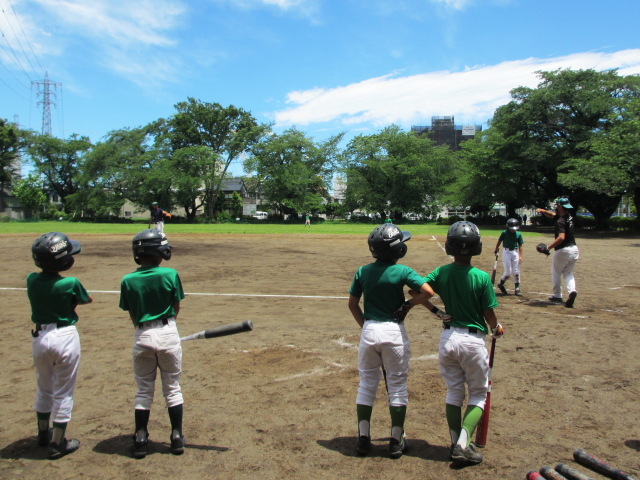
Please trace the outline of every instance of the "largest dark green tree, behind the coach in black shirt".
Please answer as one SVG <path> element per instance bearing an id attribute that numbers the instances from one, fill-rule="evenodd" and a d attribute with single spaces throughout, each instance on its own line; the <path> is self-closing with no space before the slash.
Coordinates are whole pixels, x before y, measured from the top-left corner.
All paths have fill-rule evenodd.
<path id="1" fill-rule="evenodd" d="M 637 96 L 638 77 L 615 70 L 538 74 L 537 88 L 512 90 L 513 100 L 496 110 L 489 130 L 463 144 L 458 195 L 485 205 L 490 198 L 504 202 L 510 215 L 569 195 L 604 224 L 619 195 L 589 190 L 564 175 L 576 169 L 570 160 L 589 162 L 597 155 L 595 142 L 615 124 L 612 114 Z"/>

